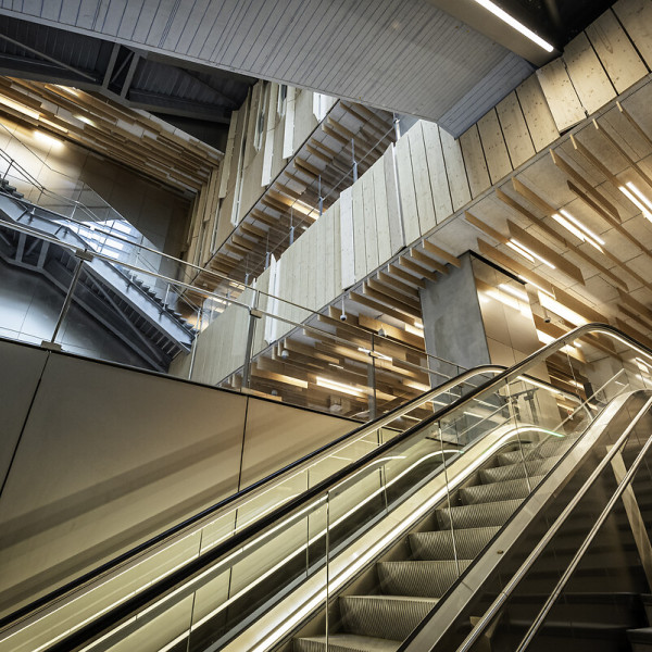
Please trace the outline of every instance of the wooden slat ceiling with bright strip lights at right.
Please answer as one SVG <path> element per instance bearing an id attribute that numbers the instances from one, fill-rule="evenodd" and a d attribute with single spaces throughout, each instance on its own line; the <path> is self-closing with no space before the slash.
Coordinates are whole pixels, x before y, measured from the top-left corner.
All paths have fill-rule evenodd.
<path id="1" fill-rule="evenodd" d="M 611 323 L 652 343 L 652 205 L 645 205 L 652 202 L 651 102 L 648 80 L 436 235 L 453 253 L 471 247 L 528 281 L 537 327 L 551 337 L 585 319 Z M 536 256 L 515 251 L 514 241 Z M 542 309 L 539 289 L 579 317 Z"/>

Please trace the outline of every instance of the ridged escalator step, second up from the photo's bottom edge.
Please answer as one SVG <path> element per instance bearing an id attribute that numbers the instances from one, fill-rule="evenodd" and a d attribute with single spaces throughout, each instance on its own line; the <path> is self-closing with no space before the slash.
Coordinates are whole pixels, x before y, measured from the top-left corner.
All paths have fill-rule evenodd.
<path id="1" fill-rule="evenodd" d="M 409 595 L 344 595 L 339 600 L 342 628 L 349 634 L 400 641 L 437 602 L 436 598 Z"/>

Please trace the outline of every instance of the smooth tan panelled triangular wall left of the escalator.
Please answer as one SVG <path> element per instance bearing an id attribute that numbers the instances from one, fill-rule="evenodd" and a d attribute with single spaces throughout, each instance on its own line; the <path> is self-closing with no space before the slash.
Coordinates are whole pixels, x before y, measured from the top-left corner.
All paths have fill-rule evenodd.
<path id="1" fill-rule="evenodd" d="M 0 340 L 0 613 L 356 424 Z"/>

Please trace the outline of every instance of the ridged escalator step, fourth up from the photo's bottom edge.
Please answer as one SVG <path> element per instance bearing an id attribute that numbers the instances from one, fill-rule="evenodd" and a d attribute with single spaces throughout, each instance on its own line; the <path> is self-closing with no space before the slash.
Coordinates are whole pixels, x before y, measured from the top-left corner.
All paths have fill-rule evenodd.
<path id="1" fill-rule="evenodd" d="M 417 560 L 453 560 L 455 552 L 472 560 L 489 543 L 500 527 L 469 527 L 455 530 L 455 546 L 451 530 L 414 532 L 410 535 L 410 549 Z"/>

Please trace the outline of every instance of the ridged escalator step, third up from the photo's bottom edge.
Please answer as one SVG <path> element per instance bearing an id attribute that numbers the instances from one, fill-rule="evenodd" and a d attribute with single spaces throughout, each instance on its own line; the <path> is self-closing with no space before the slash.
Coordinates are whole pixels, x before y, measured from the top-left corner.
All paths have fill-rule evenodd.
<path id="1" fill-rule="evenodd" d="M 379 562 L 376 569 L 388 595 L 441 598 L 472 561 Z"/>

